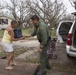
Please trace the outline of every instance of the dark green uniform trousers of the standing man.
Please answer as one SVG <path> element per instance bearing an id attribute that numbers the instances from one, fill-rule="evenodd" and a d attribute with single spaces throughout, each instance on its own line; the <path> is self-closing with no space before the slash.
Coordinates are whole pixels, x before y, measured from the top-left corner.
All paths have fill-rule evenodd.
<path id="1" fill-rule="evenodd" d="M 45 71 L 46 66 L 49 66 L 49 59 L 47 56 L 47 48 L 48 48 L 48 44 L 46 46 L 44 46 L 42 53 L 40 54 L 40 70 L 41 71 Z"/>

